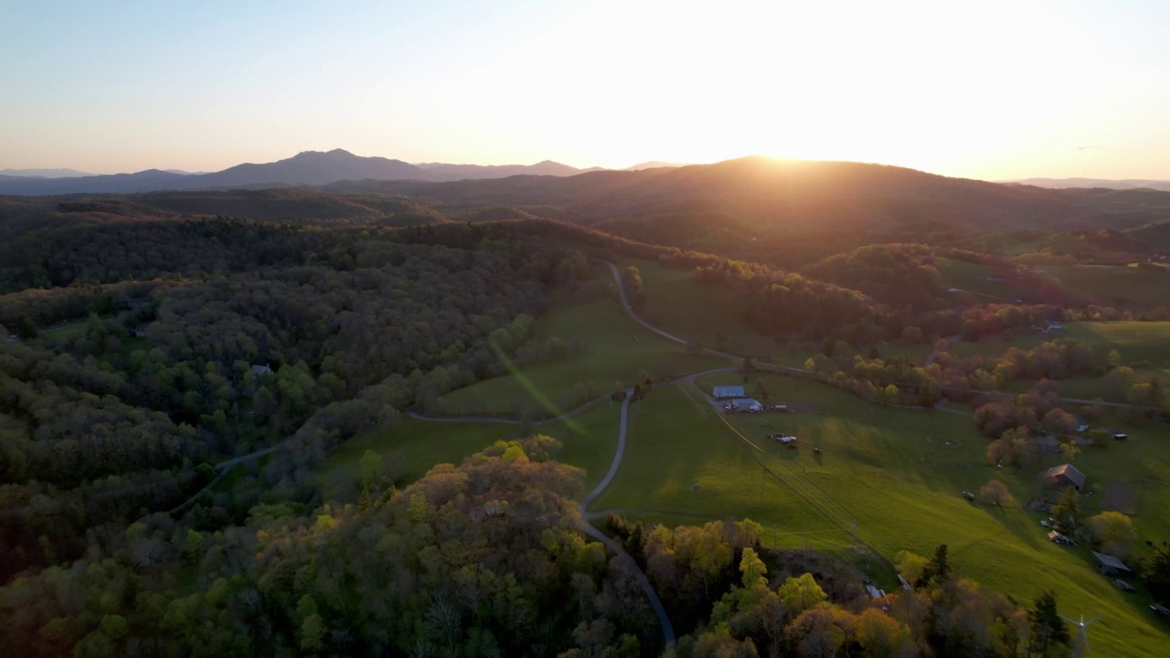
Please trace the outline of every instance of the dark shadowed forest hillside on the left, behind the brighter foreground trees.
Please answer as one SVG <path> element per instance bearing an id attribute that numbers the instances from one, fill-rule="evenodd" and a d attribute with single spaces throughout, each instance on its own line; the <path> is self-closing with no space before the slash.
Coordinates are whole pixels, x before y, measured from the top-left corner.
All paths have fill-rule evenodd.
<path id="1" fill-rule="evenodd" d="M 6 577 L 178 506 L 209 462 L 290 436 L 323 455 L 498 372 L 570 275 L 562 251 L 459 227 L 96 218 L 6 249 Z"/>

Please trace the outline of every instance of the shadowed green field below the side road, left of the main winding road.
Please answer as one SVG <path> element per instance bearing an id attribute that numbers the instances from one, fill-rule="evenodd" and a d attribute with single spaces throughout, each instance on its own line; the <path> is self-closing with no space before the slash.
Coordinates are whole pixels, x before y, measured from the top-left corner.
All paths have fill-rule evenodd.
<path id="1" fill-rule="evenodd" d="M 605 475 L 618 444 L 618 405 L 600 405 L 571 419 L 539 425 L 531 433 L 548 434 L 564 447 L 559 459 L 585 469 L 585 492 Z M 390 427 L 353 438 L 330 455 L 317 478 L 325 487 L 359 478 L 359 461 L 367 450 L 412 482 L 436 464 L 460 464 L 497 440 L 522 436 L 519 425 L 501 423 L 429 423 L 406 419 Z M 584 495 L 584 493 L 583 493 Z"/>

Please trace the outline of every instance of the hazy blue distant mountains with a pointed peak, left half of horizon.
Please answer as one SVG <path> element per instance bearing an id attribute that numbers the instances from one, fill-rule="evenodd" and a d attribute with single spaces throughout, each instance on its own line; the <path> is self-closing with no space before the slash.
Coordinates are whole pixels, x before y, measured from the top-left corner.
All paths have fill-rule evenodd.
<path id="1" fill-rule="evenodd" d="M 535 165 L 457 165 L 355 156 L 335 149 L 304 151 L 291 158 L 264 164 L 240 164 L 212 173 L 186 173 L 151 169 L 137 173 L 49 177 L 47 172 L 71 170 L 5 170 L 0 173 L 0 194 L 133 193 L 163 190 L 264 189 L 295 185 L 325 185 L 338 180 L 426 180 L 505 178 L 517 174 L 574 176 L 587 170 L 545 160 Z M 41 172 L 41 173 L 32 173 Z M 62 174 L 64 176 L 64 174 Z"/>

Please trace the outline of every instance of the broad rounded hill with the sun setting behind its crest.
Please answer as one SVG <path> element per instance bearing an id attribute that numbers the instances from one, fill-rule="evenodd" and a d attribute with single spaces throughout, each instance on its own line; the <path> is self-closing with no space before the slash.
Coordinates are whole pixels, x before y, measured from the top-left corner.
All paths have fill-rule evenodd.
<path id="1" fill-rule="evenodd" d="M 721 214 L 744 222 L 745 239 L 840 231 L 1128 228 L 1165 217 L 1158 206 L 1170 204 L 1170 193 L 1149 190 L 1044 190 L 886 165 L 763 157 L 565 178 L 349 181 L 325 190 L 424 197 L 443 204 L 450 217 L 486 205 L 553 206 L 560 219 L 607 222 L 619 233 L 621 220 Z"/>

